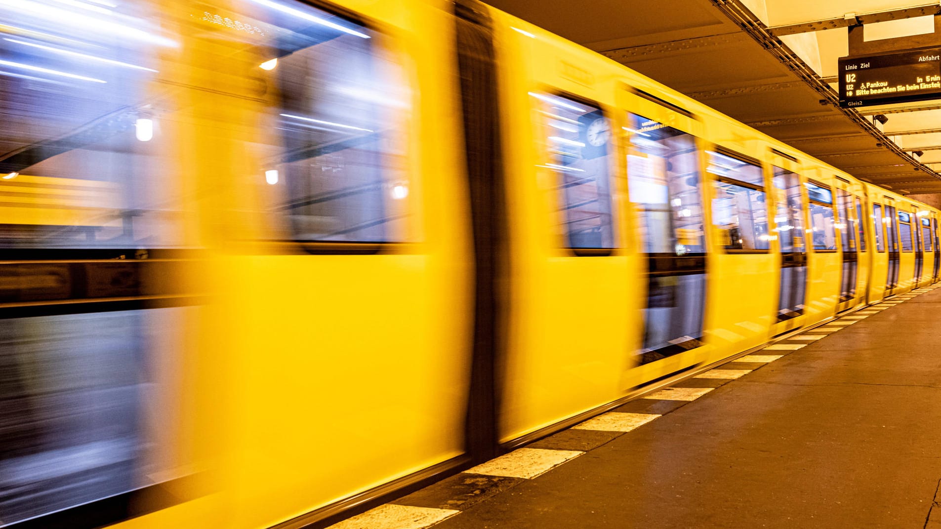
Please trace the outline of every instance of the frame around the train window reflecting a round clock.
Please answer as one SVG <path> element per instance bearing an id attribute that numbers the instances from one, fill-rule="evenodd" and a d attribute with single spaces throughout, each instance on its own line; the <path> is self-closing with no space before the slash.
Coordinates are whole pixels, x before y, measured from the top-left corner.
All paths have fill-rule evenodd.
<path id="1" fill-rule="evenodd" d="M 608 121 L 608 127 L 609 127 L 608 129 L 609 133 L 608 133 L 608 139 L 607 139 L 608 152 L 604 154 L 604 157 L 606 158 L 606 162 L 607 162 L 605 167 L 607 168 L 607 180 L 608 180 L 608 185 L 607 185 L 607 199 L 608 199 L 607 201 L 609 204 L 608 229 L 611 231 L 611 247 L 610 248 L 608 247 L 598 247 L 598 248 L 572 247 L 570 245 L 571 243 L 570 233 L 567 232 L 565 228 L 567 220 L 568 220 L 567 213 L 566 213 L 568 210 L 564 207 L 567 203 L 567 195 L 565 192 L 566 187 L 557 186 L 555 189 L 552 190 L 552 193 L 555 194 L 554 199 L 556 200 L 555 203 L 557 204 L 557 209 L 553 212 L 553 214 L 554 216 L 557 217 L 557 220 L 559 220 L 558 217 L 561 216 L 561 222 L 558 223 L 558 226 L 561 227 L 563 230 L 563 232 L 558 232 L 557 236 L 560 237 L 566 243 L 565 246 L 562 246 L 561 248 L 566 250 L 569 253 L 569 255 L 572 255 L 575 257 L 609 257 L 609 256 L 614 255 L 614 253 L 617 250 L 620 250 L 621 248 L 623 248 L 623 245 L 619 238 L 620 230 L 619 230 L 618 222 L 620 220 L 618 218 L 618 213 L 617 213 L 617 196 L 616 196 L 617 179 L 620 178 L 620 168 L 617 166 L 616 158 L 617 158 L 618 153 L 621 152 L 622 146 L 617 142 L 618 135 L 615 135 L 614 132 L 612 131 L 612 127 L 617 122 L 614 119 L 614 116 L 616 115 L 617 110 L 611 107 L 610 105 L 601 104 L 600 102 L 595 101 L 591 98 L 588 98 L 588 97 L 585 97 L 585 96 L 582 96 L 577 93 L 570 92 L 561 88 L 556 88 L 556 87 L 548 87 L 548 86 L 538 87 L 538 88 L 535 88 L 534 90 L 530 90 L 528 93 L 531 97 L 533 97 L 536 100 L 539 100 L 542 104 L 549 103 L 545 99 L 543 99 L 543 96 L 549 96 L 553 98 L 567 100 L 574 104 L 582 104 L 582 105 L 588 106 L 600 112 L 600 117 Z M 533 104 L 531 108 L 534 111 L 534 113 L 542 112 L 542 109 L 539 107 L 538 104 Z M 586 113 L 584 115 L 588 115 L 588 114 Z M 539 145 L 538 141 L 541 141 L 544 137 L 545 138 L 549 137 L 546 129 L 550 125 L 547 122 L 545 122 L 545 120 L 541 120 L 541 119 L 534 120 L 534 124 L 535 124 L 536 130 L 538 131 L 536 133 L 536 138 L 537 138 L 536 145 Z M 555 175 L 556 179 L 560 177 L 561 175 L 560 171 L 555 170 L 555 168 L 552 167 L 557 164 L 555 164 L 554 160 L 550 159 L 548 146 L 544 146 L 544 148 L 537 148 L 536 160 L 539 162 L 536 165 L 537 168 L 550 170 L 552 174 Z M 560 192 L 561 192 L 561 195 L 560 195 Z"/>

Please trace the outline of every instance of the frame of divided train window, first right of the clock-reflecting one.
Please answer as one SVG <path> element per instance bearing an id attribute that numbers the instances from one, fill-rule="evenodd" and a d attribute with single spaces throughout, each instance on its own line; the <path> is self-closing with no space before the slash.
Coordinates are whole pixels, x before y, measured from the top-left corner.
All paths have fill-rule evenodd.
<path id="1" fill-rule="evenodd" d="M 704 149 L 704 150 L 703 150 L 704 156 L 702 157 L 702 158 L 703 158 L 703 159 L 702 159 L 702 162 L 706 165 L 705 174 L 710 175 L 711 181 L 712 181 L 712 183 L 713 183 L 713 184 L 712 184 L 712 191 L 713 191 L 713 194 L 712 194 L 712 197 L 711 197 L 711 202 L 712 202 L 712 203 L 711 203 L 711 208 L 710 208 L 710 209 L 711 209 L 711 212 L 710 212 L 710 214 L 711 214 L 711 215 L 710 215 L 710 226 L 711 226 L 711 229 L 712 229 L 713 231 L 716 231 L 716 232 L 723 232 L 723 231 L 724 231 L 724 230 L 722 230 L 721 228 L 719 228 L 720 225 L 716 223 L 716 207 L 715 207 L 715 201 L 718 200 L 718 197 L 716 196 L 716 193 L 719 191 L 720 188 L 722 188 L 722 187 L 721 187 L 721 184 L 725 184 L 726 186 L 732 186 L 732 187 L 738 188 L 738 189 L 736 189 L 735 191 L 744 191 L 745 193 L 748 193 L 748 196 L 749 196 L 749 203 L 751 203 L 751 192 L 754 191 L 754 192 L 760 193 L 760 194 L 761 194 L 761 200 L 759 200 L 759 201 L 760 201 L 760 203 L 764 204 L 764 214 L 765 214 L 765 216 L 764 216 L 764 226 L 765 226 L 765 230 L 764 230 L 764 234 L 763 234 L 765 238 L 763 239 L 763 241 L 764 241 L 764 244 L 765 244 L 766 248 L 728 248 L 729 246 L 734 246 L 734 245 L 732 245 L 732 244 L 722 244 L 722 241 L 717 241 L 716 247 L 717 247 L 718 249 L 721 249 L 721 250 L 722 250 L 723 252 L 725 252 L 726 254 L 730 254 L 730 255 L 734 255 L 734 254 L 759 254 L 759 255 L 760 255 L 760 254 L 768 254 L 768 253 L 771 253 L 771 251 L 772 251 L 772 245 L 771 245 L 771 237 L 772 237 L 771 228 L 772 228 L 772 220 L 774 219 L 774 216 L 773 216 L 773 214 L 770 212 L 770 209 L 769 209 L 769 202 L 768 202 L 768 186 L 767 186 L 767 170 L 766 170 L 766 168 L 765 168 L 764 162 L 762 162 L 762 161 L 759 160 L 758 158 L 754 158 L 754 157 L 752 157 L 752 156 L 748 156 L 747 154 L 742 154 L 741 152 L 736 152 L 736 151 L 733 151 L 733 150 L 728 149 L 728 148 L 726 148 L 726 147 L 723 147 L 722 145 L 713 144 L 713 145 L 711 145 L 710 147 L 711 147 L 711 148 L 707 148 L 707 149 Z M 721 156 L 725 156 L 725 157 L 727 157 L 727 158 L 731 158 L 731 159 L 737 160 L 737 161 L 739 161 L 739 162 L 742 162 L 742 164 L 749 165 L 749 166 L 752 166 L 752 167 L 754 167 L 754 168 L 757 168 L 757 169 L 758 169 L 758 174 L 760 175 L 760 180 L 759 180 L 759 181 L 760 181 L 760 184 L 756 184 L 756 183 L 749 182 L 749 181 L 746 181 L 746 180 L 740 180 L 740 179 L 733 178 L 733 177 L 730 177 L 730 176 L 720 175 L 720 174 L 717 174 L 716 172 L 713 172 L 712 170 L 710 170 L 710 167 L 711 167 L 710 155 L 712 155 L 712 154 L 718 154 L 718 155 L 721 155 Z M 774 184 L 773 184 L 773 185 L 774 185 Z M 736 195 L 736 196 L 738 196 L 738 195 Z M 753 238 L 755 238 L 756 240 L 761 240 L 761 239 L 760 239 L 761 235 L 759 235 L 758 232 L 755 232 L 755 228 L 754 228 L 754 226 L 755 226 L 755 224 L 756 224 L 756 222 L 755 222 L 755 216 L 754 216 L 754 211 L 755 211 L 755 210 L 749 210 L 749 212 L 751 213 L 750 220 L 751 220 L 752 226 L 753 226 L 753 228 L 752 228 L 752 232 L 753 232 L 752 235 L 753 235 Z M 740 226 L 741 226 L 741 224 L 740 224 Z M 732 242 L 731 236 L 729 236 L 729 239 L 728 239 L 728 240 L 729 240 L 730 243 Z M 740 240 L 741 240 L 741 239 L 740 239 Z M 742 243 L 742 244 L 743 244 L 743 243 Z"/>

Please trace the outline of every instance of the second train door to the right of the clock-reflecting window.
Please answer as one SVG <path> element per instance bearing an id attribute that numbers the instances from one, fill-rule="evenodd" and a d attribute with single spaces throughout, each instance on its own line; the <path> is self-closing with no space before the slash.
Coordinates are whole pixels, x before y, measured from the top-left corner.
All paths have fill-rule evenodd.
<path id="1" fill-rule="evenodd" d="M 785 167 L 796 169 L 796 160 L 773 152 L 774 232 L 780 250 L 777 312 L 772 335 L 801 326 L 807 281 L 804 237 L 805 198 L 801 177 Z"/>

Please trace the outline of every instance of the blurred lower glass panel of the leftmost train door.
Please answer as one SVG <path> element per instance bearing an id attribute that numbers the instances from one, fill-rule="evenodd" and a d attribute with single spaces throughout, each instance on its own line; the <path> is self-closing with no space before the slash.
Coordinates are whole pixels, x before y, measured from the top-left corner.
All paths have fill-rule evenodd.
<path id="1" fill-rule="evenodd" d="M 152 485 L 145 436 L 167 429 L 154 373 L 180 309 L 13 318 L 0 325 L 0 513 L 12 523 Z M 145 409 L 147 412 L 145 413 Z M 177 476 L 178 477 L 178 476 Z"/>

